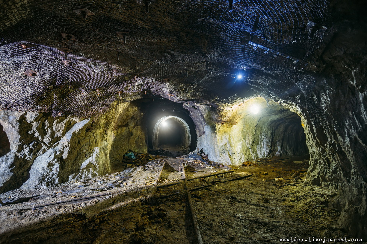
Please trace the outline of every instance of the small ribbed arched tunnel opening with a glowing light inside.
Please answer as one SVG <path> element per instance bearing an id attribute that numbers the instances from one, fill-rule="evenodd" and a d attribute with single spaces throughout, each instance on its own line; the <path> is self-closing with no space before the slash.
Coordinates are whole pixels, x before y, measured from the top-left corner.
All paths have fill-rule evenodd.
<path id="1" fill-rule="evenodd" d="M 191 144 L 189 125 L 185 120 L 167 115 L 157 121 L 153 130 L 153 149 L 188 152 Z"/>

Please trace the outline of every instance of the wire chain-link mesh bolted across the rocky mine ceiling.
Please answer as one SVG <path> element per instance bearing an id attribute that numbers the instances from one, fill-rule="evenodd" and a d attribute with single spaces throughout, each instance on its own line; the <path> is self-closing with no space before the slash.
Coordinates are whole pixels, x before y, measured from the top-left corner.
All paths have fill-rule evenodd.
<path id="1" fill-rule="evenodd" d="M 298 74 L 328 32 L 327 6 L 326 0 L 2 1 L 0 109 L 90 117 L 111 104 L 160 95 L 183 103 L 202 127 L 206 110 L 236 93 L 224 89 L 234 74 L 251 71 L 257 86 L 269 82 L 264 75 L 276 77 L 279 87 Z"/>

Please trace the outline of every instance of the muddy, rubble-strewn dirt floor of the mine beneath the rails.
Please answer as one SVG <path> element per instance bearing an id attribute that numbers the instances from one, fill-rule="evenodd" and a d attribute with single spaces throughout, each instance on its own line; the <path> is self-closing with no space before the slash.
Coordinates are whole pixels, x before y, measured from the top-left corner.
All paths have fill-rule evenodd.
<path id="1" fill-rule="evenodd" d="M 0 243 L 198 243 L 184 176 L 189 189 L 209 185 L 190 191 L 204 244 L 348 238 L 333 207 L 338 193 L 304 183 L 307 159 L 259 159 L 232 167 L 162 158 L 59 188 L 4 193 L 0 198 L 8 203 L 39 196 L 0 207 Z M 98 197 L 66 202 L 90 196 Z"/>

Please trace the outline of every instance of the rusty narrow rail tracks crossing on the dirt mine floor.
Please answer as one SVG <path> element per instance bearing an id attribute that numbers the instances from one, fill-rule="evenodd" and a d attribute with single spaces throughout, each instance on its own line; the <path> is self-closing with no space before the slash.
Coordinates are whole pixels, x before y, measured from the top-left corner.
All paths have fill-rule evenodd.
<path id="1" fill-rule="evenodd" d="M 169 168 L 169 170 L 167 169 Z M 172 172 L 172 168 L 175 170 Z M 167 174 L 179 175 L 177 182 L 163 184 Z M 256 174 L 256 173 L 255 173 Z M 159 174 L 156 177 L 155 183 L 147 187 L 134 189 L 133 191 L 109 191 L 102 194 L 84 196 L 80 198 L 38 204 L 33 206 L 33 210 L 42 209 L 48 206 L 60 206 L 65 204 L 75 204 L 84 201 L 90 201 L 97 197 L 107 197 L 114 199 L 111 202 L 112 206 L 104 208 L 102 211 L 109 211 L 117 208 L 128 206 L 131 202 L 142 202 L 144 206 L 157 205 L 165 209 L 177 227 L 176 236 L 181 235 L 183 240 L 181 243 L 197 243 L 203 244 L 203 238 L 200 232 L 200 226 L 196 215 L 195 201 L 192 199 L 194 191 L 206 189 L 211 191 L 210 186 L 222 184 L 229 181 L 242 180 L 254 174 L 238 176 L 236 170 L 222 171 L 213 174 L 205 174 L 199 177 L 190 177 L 192 175 L 185 170 L 184 160 L 162 160 Z M 194 195 L 195 196 L 195 195 Z M 29 208 L 24 208 L 24 210 Z M 201 212 L 200 212 L 201 213 Z M 186 234 L 184 234 L 186 232 Z M 168 240 L 167 240 L 168 241 Z"/>

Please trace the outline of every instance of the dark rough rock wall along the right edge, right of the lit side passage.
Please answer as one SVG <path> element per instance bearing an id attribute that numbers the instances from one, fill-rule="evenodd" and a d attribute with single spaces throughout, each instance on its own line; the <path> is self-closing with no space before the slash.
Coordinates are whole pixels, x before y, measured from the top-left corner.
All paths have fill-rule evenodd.
<path id="1" fill-rule="evenodd" d="M 365 22 L 366 23 L 366 22 Z M 312 153 L 309 180 L 339 189 L 339 223 L 352 236 L 367 239 L 367 34 L 357 27 L 337 35 L 323 55 L 330 67 L 313 90 L 323 120 L 309 116 Z M 345 43 L 353 45 L 345 46 Z"/>

